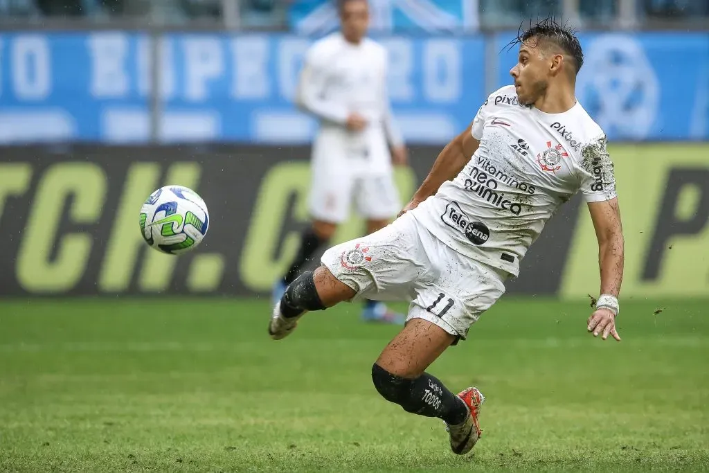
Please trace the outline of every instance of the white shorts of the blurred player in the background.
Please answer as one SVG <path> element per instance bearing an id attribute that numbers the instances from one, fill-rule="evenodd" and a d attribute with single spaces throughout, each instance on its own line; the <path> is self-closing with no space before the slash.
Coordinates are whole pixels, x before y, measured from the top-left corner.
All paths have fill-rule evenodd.
<path id="1" fill-rule="evenodd" d="M 330 223 L 342 223 L 350 217 L 352 204 L 359 215 L 368 220 L 388 220 L 401 211 L 393 174 L 373 176 L 337 174 L 313 169 L 310 191 L 311 217 Z"/>

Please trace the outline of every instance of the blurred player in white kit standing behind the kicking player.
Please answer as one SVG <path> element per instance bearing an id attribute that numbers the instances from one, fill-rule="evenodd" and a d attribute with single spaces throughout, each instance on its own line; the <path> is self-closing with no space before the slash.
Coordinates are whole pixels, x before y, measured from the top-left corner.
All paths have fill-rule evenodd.
<path id="1" fill-rule="evenodd" d="M 311 46 L 301 72 L 296 101 L 320 122 L 312 149 L 313 221 L 301 235 L 286 274 L 274 285 L 274 302 L 347 220 L 353 199 L 367 220 L 367 234 L 384 228 L 401 209 L 392 165 L 405 165 L 407 155 L 391 114 L 386 50 L 364 36 L 367 0 L 340 0 L 337 8 L 341 30 Z M 362 318 L 404 321 L 401 314 L 371 299 L 364 301 Z"/>

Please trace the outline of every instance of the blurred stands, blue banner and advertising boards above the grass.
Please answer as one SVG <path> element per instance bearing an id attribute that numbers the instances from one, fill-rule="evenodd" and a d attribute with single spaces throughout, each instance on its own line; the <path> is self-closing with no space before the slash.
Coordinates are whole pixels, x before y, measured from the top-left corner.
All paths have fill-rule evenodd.
<path id="1" fill-rule="evenodd" d="M 709 0 L 370 3 L 412 156 L 402 200 L 510 82 L 520 23 L 562 18 L 586 53 L 579 100 L 616 163 L 625 294 L 707 293 Z M 0 0 L 0 22 L 0 293 L 266 294 L 308 218 L 316 123 L 292 99 L 308 45 L 338 28 L 334 4 Z M 164 182 L 211 211 L 179 264 L 146 252 L 135 226 Z M 584 210 L 562 208 L 510 292 L 597 291 Z M 337 240 L 361 232 L 353 216 Z"/>

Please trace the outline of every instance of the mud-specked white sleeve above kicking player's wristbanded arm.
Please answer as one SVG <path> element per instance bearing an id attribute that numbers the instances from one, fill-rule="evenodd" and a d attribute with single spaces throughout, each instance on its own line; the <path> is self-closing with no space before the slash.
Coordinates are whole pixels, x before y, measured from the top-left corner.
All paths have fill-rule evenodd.
<path id="1" fill-rule="evenodd" d="M 618 196 L 605 135 L 581 148 L 581 194 L 586 202 L 609 201 Z"/>

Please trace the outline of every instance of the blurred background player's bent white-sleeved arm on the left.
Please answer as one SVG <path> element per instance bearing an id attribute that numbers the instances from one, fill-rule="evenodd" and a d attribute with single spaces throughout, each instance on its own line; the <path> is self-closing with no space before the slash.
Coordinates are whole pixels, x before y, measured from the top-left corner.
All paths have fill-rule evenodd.
<path id="1" fill-rule="evenodd" d="M 328 51 L 323 50 L 322 44 L 315 45 L 308 51 L 303 62 L 303 69 L 298 78 L 298 88 L 295 96 L 296 105 L 319 120 L 356 129 L 359 123 L 351 123 L 352 116 L 350 116 L 350 112 L 347 109 L 347 104 L 333 99 L 328 94 L 328 82 L 330 80 L 328 57 L 330 57 L 330 54 L 328 54 Z M 364 124 L 364 121 L 362 121 L 362 128 Z"/>

